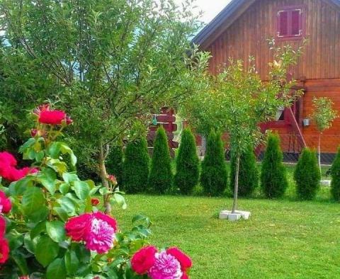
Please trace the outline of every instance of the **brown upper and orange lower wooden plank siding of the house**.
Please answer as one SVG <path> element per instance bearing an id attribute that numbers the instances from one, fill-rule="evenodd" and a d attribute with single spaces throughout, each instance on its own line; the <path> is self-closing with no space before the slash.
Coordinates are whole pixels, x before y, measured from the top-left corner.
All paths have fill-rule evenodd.
<path id="1" fill-rule="evenodd" d="M 302 135 L 309 147 L 317 147 L 317 130 L 313 123 L 302 127 L 302 119 L 309 118 L 312 113 L 312 98 L 327 96 L 334 101 L 335 108 L 340 113 L 340 8 L 327 0 L 258 0 L 229 25 L 221 35 L 213 41 L 208 38 L 204 50 L 211 52 L 210 72 L 217 74 L 228 58 L 243 59 L 248 67 L 248 57 L 256 59 L 256 69 L 263 81 L 268 80 L 268 62 L 273 54 L 268 48 L 268 38 L 276 38 L 276 15 L 279 8 L 287 6 L 302 6 L 305 38 L 309 39 L 304 55 L 300 57 L 297 66 L 291 69 L 291 74 L 297 80 L 302 79 L 306 90 L 302 97 L 299 119 L 297 120 Z M 213 36 L 212 36 L 213 37 Z M 302 40 L 276 40 L 278 46 L 300 46 Z M 273 129 L 274 130 L 274 129 Z M 289 127 L 275 127 L 281 136 L 291 137 Z M 324 132 L 322 137 L 322 152 L 334 153 L 340 145 L 340 118 L 334 121 L 333 127 Z M 291 139 L 291 138 L 290 138 Z M 293 140 L 293 139 L 292 139 Z M 283 143 L 283 149 L 288 151 L 291 146 Z"/>

